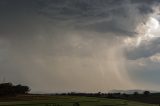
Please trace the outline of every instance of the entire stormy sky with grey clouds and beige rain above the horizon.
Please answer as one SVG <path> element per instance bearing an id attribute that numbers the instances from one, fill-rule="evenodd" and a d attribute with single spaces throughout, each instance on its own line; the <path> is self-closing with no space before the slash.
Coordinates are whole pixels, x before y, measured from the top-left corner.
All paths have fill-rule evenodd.
<path id="1" fill-rule="evenodd" d="M 0 14 L 1 83 L 160 91 L 160 0 L 0 0 Z"/>

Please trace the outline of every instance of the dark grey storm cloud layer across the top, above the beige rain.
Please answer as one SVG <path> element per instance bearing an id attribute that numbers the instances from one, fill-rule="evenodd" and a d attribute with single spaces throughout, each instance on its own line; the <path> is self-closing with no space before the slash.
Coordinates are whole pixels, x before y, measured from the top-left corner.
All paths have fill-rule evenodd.
<path id="1" fill-rule="evenodd" d="M 50 21 L 55 25 L 73 27 L 75 30 L 133 36 L 136 34 L 135 28 L 139 20 L 144 21 L 145 15 L 153 12 L 151 5 L 156 1 L 148 1 L 150 5 L 147 5 L 146 1 L 126 0 L 2 0 L 0 2 L 1 36 L 6 32 L 18 32 L 16 36 L 32 37 L 30 32 L 35 32 L 38 26 L 48 26 Z M 133 15 L 130 12 L 133 12 Z M 45 20 L 42 17 L 45 17 Z M 46 19 L 47 17 L 49 19 Z"/>

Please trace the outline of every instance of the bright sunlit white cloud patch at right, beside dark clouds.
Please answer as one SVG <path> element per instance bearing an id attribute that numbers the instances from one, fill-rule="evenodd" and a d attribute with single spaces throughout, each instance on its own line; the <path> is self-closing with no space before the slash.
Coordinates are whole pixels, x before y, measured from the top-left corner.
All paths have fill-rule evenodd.
<path id="1" fill-rule="evenodd" d="M 137 32 L 139 33 L 137 37 L 128 37 L 124 40 L 124 43 L 128 46 L 138 47 L 143 41 L 150 41 L 160 37 L 159 28 L 159 21 L 154 17 L 150 17 L 146 24 L 140 24 L 137 27 Z"/>

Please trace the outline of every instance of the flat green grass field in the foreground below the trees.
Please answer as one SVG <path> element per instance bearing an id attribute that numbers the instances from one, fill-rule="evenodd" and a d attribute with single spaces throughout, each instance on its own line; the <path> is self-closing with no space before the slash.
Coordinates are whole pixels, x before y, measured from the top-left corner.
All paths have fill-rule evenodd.
<path id="1" fill-rule="evenodd" d="M 78 96 L 28 96 L 1 98 L 0 106 L 158 106 L 121 99 Z"/>

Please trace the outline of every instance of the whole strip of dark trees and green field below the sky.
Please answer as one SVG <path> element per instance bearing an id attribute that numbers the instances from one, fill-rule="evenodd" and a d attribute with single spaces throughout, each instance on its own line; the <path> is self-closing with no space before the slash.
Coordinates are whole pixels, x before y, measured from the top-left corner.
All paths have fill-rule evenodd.
<path id="1" fill-rule="evenodd" d="M 33 95 L 28 94 L 29 91 L 28 86 L 0 84 L 0 106 L 158 106 L 160 104 L 160 93 L 149 91 L 133 94 L 71 92 L 50 95 Z"/>

